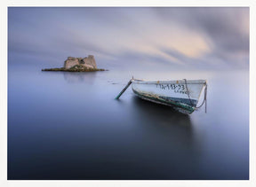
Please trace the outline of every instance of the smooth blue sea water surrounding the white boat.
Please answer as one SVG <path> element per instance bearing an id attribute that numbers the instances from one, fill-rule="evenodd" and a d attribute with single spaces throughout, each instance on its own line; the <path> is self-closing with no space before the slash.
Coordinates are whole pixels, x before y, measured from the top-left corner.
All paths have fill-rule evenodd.
<path id="1" fill-rule="evenodd" d="M 249 179 L 246 71 L 8 73 L 8 179 Z M 207 79 L 207 113 L 115 100 L 132 75 Z"/>

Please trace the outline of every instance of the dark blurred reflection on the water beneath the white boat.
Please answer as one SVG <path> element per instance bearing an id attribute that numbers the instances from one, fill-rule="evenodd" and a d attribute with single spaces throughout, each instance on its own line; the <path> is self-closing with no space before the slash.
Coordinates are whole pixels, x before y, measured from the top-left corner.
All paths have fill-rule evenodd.
<path id="1" fill-rule="evenodd" d="M 176 112 L 167 105 L 158 105 L 132 97 L 132 117 L 140 128 L 152 136 L 168 139 L 172 144 L 194 146 L 193 125 L 189 115 Z"/>

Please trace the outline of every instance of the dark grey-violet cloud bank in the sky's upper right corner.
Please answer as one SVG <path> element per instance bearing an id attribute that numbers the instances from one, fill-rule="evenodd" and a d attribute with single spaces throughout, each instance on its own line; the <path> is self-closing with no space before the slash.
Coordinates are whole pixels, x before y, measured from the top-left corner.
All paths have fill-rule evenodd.
<path id="1" fill-rule="evenodd" d="M 214 51 L 249 51 L 249 8 L 160 8 L 156 12 L 162 19 L 200 32 Z"/>

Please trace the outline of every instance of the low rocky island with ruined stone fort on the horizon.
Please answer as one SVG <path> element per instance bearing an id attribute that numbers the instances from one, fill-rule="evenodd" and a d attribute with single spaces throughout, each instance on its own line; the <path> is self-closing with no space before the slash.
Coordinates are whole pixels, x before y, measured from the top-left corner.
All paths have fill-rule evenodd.
<path id="1" fill-rule="evenodd" d="M 85 58 L 68 57 L 68 59 L 65 60 L 63 67 L 42 69 L 42 71 L 95 72 L 106 70 L 98 69 L 93 55 L 89 55 Z"/>

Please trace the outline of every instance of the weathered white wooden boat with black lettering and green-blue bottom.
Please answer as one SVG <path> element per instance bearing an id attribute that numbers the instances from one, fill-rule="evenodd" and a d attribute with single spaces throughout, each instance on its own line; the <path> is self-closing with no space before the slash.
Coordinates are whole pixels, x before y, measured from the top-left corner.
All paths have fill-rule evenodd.
<path id="1" fill-rule="evenodd" d="M 186 114 L 193 113 L 205 103 L 206 113 L 206 80 L 147 82 L 132 78 L 116 98 L 118 99 L 131 84 L 132 91 L 142 99 L 172 106 L 176 111 Z M 196 106 L 203 90 L 204 101 L 200 106 Z"/>

